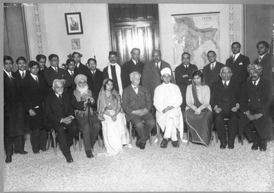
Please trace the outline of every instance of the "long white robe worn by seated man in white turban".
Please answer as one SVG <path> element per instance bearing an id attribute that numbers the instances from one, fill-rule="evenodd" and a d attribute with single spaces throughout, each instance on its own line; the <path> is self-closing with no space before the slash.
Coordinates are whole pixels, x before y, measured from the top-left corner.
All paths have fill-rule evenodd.
<path id="1" fill-rule="evenodd" d="M 166 120 L 173 119 L 173 124 L 179 130 L 180 138 L 184 135 L 184 120 L 181 111 L 181 104 L 183 102 L 182 93 L 176 84 L 164 82 L 156 87 L 154 91 L 154 102 L 156 111 L 156 120 L 162 131 L 166 128 Z M 174 109 L 162 113 L 166 106 L 174 106 Z"/>

